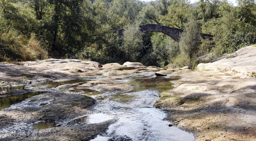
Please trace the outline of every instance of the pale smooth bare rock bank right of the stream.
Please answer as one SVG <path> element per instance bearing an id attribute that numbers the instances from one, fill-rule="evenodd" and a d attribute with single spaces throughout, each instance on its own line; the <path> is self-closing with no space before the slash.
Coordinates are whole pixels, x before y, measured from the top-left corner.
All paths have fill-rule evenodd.
<path id="1" fill-rule="evenodd" d="M 232 57 L 230 57 L 232 56 Z M 198 141 L 256 140 L 256 48 L 244 47 L 200 71 L 160 71 L 181 76 L 155 107 Z"/>

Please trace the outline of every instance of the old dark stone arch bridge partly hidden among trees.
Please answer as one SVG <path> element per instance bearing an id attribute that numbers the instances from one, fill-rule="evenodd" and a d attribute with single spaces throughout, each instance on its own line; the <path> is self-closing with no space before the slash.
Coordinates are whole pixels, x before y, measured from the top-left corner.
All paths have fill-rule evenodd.
<path id="1" fill-rule="evenodd" d="M 118 32 L 120 35 L 122 35 L 124 30 L 125 29 L 118 29 L 118 30 L 115 30 L 114 32 L 115 33 Z M 182 29 L 163 26 L 163 25 L 159 25 L 159 24 L 140 25 L 140 31 L 141 32 L 161 32 L 163 34 L 170 36 L 175 41 L 180 40 L 180 33 L 183 32 Z M 201 33 L 201 36 L 203 39 L 206 39 L 206 38 L 212 39 L 213 38 L 213 36 L 210 34 Z"/>

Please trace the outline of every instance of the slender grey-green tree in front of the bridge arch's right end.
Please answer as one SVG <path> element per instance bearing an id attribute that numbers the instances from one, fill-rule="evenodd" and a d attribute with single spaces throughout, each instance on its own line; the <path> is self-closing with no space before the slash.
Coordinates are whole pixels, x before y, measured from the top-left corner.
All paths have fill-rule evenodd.
<path id="1" fill-rule="evenodd" d="M 196 55 L 199 45 L 201 44 L 201 29 L 195 19 L 192 18 L 185 26 L 185 30 L 181 34 L 180 38 L 180 48 L 181 52 L 187 55 L 189 58 L 189 65 L 192 66 L 191 61 L 193 57 Z"/>

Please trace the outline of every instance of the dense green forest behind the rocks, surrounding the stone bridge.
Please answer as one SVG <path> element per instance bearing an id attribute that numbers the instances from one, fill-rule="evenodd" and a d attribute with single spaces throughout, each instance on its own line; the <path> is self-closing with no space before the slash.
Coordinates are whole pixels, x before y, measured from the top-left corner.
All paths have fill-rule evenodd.
<path id="1" fill-rule="evenodd" d="M 184 29 L 180 41 L 140 32 Z M 113 30 L 125 28 L 123 35 Z M 202 39 L 200 33 L 213 39 Z M 195 66 L 256 43 L 255 0 L 1 0 L 0 61 L 62 58 Z"/>

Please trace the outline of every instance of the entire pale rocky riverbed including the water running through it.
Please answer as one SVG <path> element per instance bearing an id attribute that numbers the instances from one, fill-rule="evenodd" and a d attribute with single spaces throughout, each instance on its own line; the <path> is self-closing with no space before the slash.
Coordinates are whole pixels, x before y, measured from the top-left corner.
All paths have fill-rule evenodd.
<path id="1" fill-rule="evenodd" d="M 76 59 L 2 64 L 0 138 L 256 140 L 255 59 L 249 46 L 198 71 Z"/>

